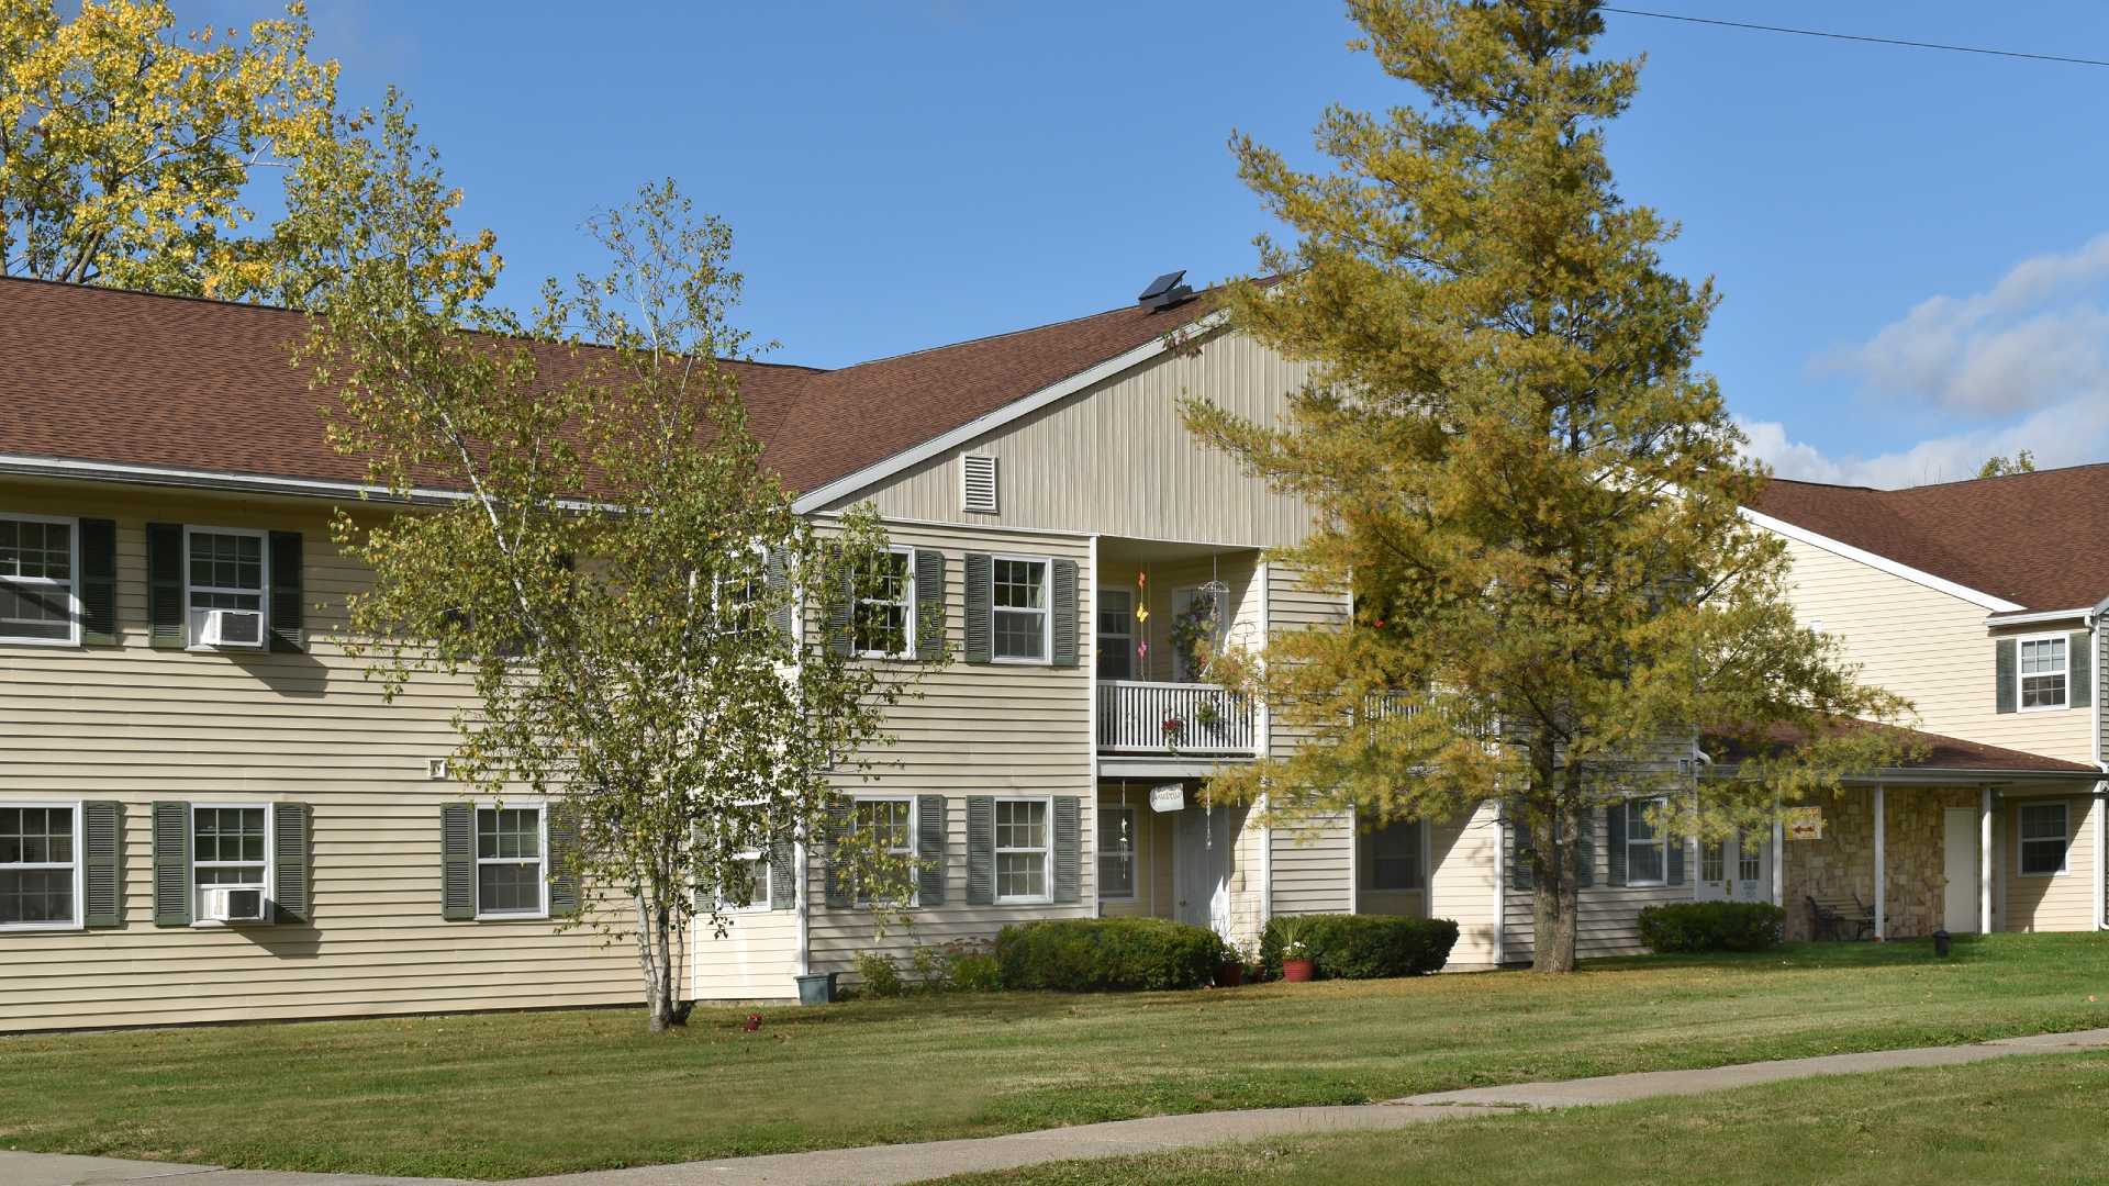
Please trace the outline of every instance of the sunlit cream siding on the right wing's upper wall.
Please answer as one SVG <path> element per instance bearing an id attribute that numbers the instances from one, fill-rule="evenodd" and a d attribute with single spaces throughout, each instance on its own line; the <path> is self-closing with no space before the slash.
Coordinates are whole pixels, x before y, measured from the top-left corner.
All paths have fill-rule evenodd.
<path id="1" fill-rule="evenodd" d="M 1919 728 L 2094 762 L 2094 709 L 1995 711 L 1995 648 L 1985 608 L 1799 540 L 1786 547 L 1795 563 L 1788 582 L 1795 616 L 1803 625 L 1820 620 L 1824 633 L 1837 635 L 1845 656 L 1864 665 L 1864 682 L 1911 699 Z M 2004 633 L 2048 629 L 2060 627 Z"/>

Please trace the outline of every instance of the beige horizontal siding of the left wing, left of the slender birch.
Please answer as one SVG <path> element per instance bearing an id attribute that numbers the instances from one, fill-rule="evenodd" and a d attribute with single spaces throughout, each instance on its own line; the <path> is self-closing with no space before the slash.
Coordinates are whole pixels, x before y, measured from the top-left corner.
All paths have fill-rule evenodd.
<path id="1" fill-rule="evenodd" d="M 0 646 L 0 802 L 124 804 L 124 929 L 0 933 L 0 1030 L 340 1017 L 639 998 L 626 943 L 553 922 L 443 922 L 434 783 L 464 682 L 422 677 L 392 705 L 340 644 L 365 574 L 306 500 L 152 496 L 4 483 L 0 511 L 118 523 L 122 648 Z M 146 639 L 146 519 L 297 530 L 306 654 L 190 654 Z M 321 604 L 321 608 L 314 608 Z M 312 920 L 152 924 L 154 800 L 312 806 Z"/>

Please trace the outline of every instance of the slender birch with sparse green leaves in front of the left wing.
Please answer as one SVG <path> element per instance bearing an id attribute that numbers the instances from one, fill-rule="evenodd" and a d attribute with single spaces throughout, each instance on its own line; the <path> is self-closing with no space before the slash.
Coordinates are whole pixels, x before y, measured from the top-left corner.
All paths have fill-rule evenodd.
<path id="1" fill-rule="evenodd" d="M 723 365 L 749 346 L 723 222 L 647 186 L 588 224 L 610 270 L 515 321 L 481 302 L 494 262 L 462 249 L 479 236 L 453 234 L 449 192 L 403 133 L 295 211 L 350 228 L 306 260 L 331 443 L 399 500 L 447 492 L 340 515 L 373 570 L 352 635 L 390 694 L 472 677 L 458 774 L 550 800 L 553 836 L 576 836 L 550 876 L 584 886 L 576 924 L 635 943 L 662 1030 L 685 1017 L 692 922 L 747 903 L 744 853 L 818 840 L 913 694 L 793 629 L 801 589 L 875 572 L 886 538 L 869 513 L 823 538 L 761 464 Z"/>

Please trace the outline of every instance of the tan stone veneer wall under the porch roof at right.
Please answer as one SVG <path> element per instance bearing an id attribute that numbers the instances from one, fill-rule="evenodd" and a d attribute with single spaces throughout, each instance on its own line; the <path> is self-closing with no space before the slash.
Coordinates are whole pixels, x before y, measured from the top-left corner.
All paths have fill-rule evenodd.
<path id="1" fill-rule="evenodd" d="M 1940 812 L 1978 806 L 1976 787 L 1888 787 L 1883 793 L 1885 933 L 1932 935 L 1947 891 L 1947 836 Z M 1786 937 L 1810 939 L 1810 897 L 1854 893 L 1875 905 L 1875 791 L 1850 789 L 1820 804 L 1822 840 L 1786 842 Z"/>

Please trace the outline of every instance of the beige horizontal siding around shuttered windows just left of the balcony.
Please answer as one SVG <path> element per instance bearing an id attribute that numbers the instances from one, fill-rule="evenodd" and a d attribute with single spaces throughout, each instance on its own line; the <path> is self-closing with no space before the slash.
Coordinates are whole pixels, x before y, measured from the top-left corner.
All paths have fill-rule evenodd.
<path id="1" fill-rule="evenodd" d="M 945 553 L 945 633 L 953 663 L 920 680 L 917 699 L 896 705 L 886 720 L 894 745 L 873 753 L 863 774 L 846 772 L 837 789 L 848 796 L 947 798 L 945 905 L 913 907 L 907 920 L 886 920 L 871 910 L 829 910 L 827 869 L 808 861 L 810 967 L 816 973 L 852 969 L 858 952 L 905 962 L 920 945 L 955 939 L 993 939 L 1008 922 L 1031 918 L 1088 918 L 1097 914 L 1097 787 L 1092 785 L 1090 644 L 1097 601 L 1090 540 L 1078 536 L 1017 534 L 1000 528 L 888 528 L 901 547 Z M 1078 563 L 1078 667 L 970 665 L 966 648 L 966 553 L 1067 557 Z M 808 618 L 808 629 L 818 629 Z M 913 663 L 892 665 L 920 675 Z M 970 796 L 1078 796 L 1080 901 L 1076 905 L 966 905 L 966 800 Z"/>

